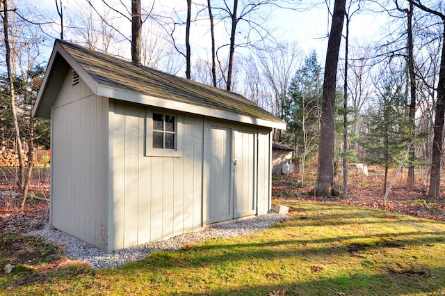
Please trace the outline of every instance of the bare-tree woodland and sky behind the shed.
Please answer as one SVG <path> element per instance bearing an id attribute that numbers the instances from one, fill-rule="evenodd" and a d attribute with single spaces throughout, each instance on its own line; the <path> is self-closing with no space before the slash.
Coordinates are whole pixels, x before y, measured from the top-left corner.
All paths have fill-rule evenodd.
<path id="1" fill-rule="evenodd" d="M 275 141 L 296 149 L 304 184 L 308 164 L 325 157 L 318 149 L 325 143 L 326 57 L 315 50 L 305 54 L 299 40 L 283 38 L 273 28 L 270 11 L 325 8 L 330 20 L 341 1 L 139 1 L 136 13 L 135 2 L 1 0 L 1 146 L 27 155 L 34 147 L 49 148 L 49 122 L 31 118 L 31 109 L 56 38 L 129 59 L 136 17 L 138 63 L 241 93 L 282 118 L 288 127 L 275 132 Z M 348 193 L 348 170 L 341 167 L 364 162 L 384 169 L 384 194 L 389 169 L 404 166 L 407 188 L 429 185 L 428 196 L 439 196 L 445 110 L 442 1 L 343 1 L 343 8 L 334 106 L 334 167 L 343 171 L 337 191 Z M 349 38 L 350 26 L 357 26 L 362 14 L 387 17 L 375 40 Z M 197 46 L 196 38 L 207 41 Z M 24 187 L 26 168 L 17 175 Z"/>

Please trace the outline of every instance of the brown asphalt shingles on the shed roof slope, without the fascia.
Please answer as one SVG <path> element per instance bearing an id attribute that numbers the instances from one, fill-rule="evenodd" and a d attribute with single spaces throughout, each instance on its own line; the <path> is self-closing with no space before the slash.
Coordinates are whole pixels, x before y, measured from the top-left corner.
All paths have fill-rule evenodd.
<path id="1" fill-rule="evenodd" d="M 70 42 L 56 42 L 59 42 L 98 84 L 282 123 L 282 120 L 237 93 L 170 75 Z"/>

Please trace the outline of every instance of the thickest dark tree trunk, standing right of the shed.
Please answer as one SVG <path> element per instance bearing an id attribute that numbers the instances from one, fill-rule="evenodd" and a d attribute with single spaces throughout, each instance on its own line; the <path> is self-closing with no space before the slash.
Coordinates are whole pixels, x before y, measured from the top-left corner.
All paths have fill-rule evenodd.
<path id="1" fill-rule="evenodd" d="M 345 15 L 346 0 L 335 0 L 323 81 L 320 131 L 320 143 L 323 143 L 323 145 L 320 145 L 318 150 L 317 183 L 315 187 L 315 193 L 319 196 L 331 196 L 334 182 L 335 88 Z"/>

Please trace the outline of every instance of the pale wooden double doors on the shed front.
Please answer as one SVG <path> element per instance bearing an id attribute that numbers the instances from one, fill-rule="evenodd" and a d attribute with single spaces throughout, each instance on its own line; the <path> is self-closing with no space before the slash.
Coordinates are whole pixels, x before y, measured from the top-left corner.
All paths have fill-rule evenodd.
<path id="1" fill-rule="evenodd" d="M 209 180 L 203 203 L 207 224 L 256 214 L 255 140 L 253 131 L 207 125 L 204 178 Z"/>

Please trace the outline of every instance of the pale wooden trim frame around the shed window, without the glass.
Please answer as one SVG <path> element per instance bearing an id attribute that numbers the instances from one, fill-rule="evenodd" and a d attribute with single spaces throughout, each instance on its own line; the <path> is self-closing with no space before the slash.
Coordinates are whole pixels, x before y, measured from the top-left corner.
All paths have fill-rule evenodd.
<path id="1" fill-rule="evenodd" d="M 153 114 L 175 116 L 175 149 L 153 148 Z M 181 157 L 184 143 L 182 130 L 182 116 L 164 109 L 148 109 L 145 116 L 145 156 L 154 157 Z"/>

